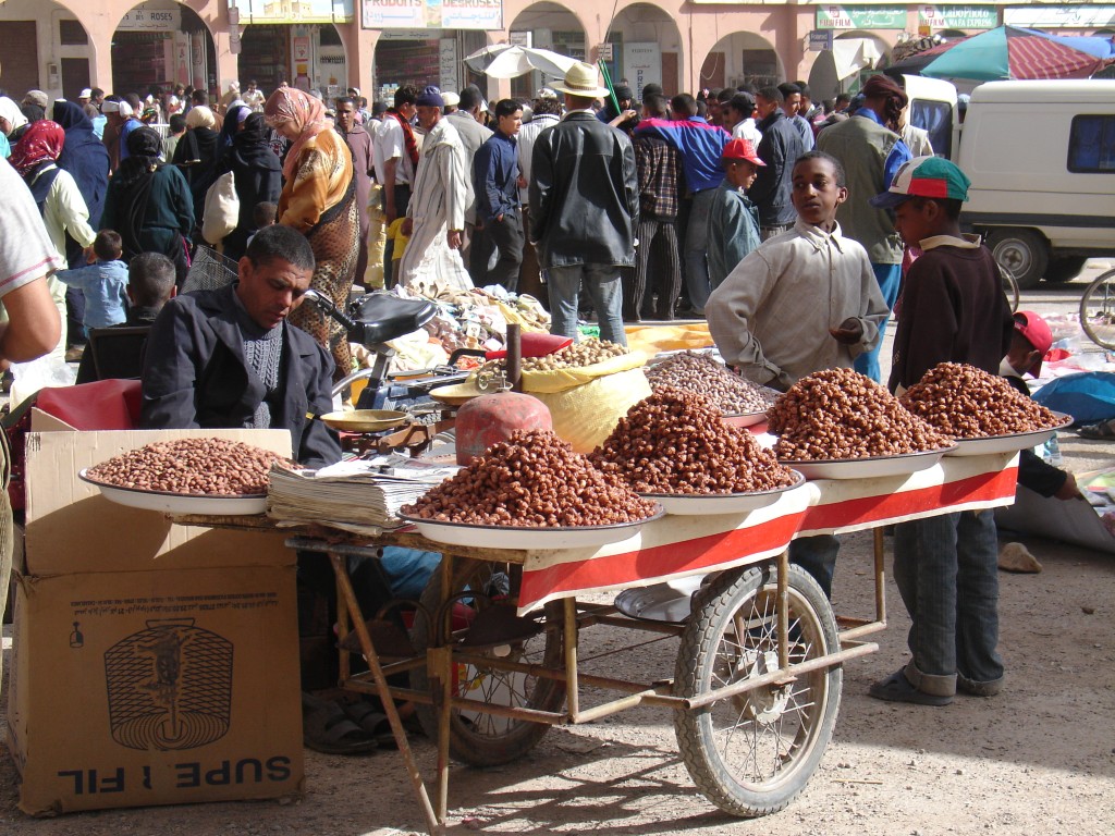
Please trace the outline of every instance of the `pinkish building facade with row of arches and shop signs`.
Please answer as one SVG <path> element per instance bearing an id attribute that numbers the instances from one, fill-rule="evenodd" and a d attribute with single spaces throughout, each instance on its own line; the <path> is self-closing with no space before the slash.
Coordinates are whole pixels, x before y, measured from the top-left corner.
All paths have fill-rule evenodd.
<path id="1" fill-rule="evenodd" d="M 530 95 L 541 74 L 487 82 L 464 58 L 514 42 L 585 60 L 615 80 L 668 94 L 807 79 L 815 98 L 854 89 L 900 42 L 971 35 L 1001 22 L 1058 33 L 1115 33 L 1115 4 L 773 3 L 758 0 L 4 0 L 0 86 L 56 97 L 84 87 L 140 94 L 176 82 L 224 91 L 255 79 L 369 98 L 400 84 Z"/>

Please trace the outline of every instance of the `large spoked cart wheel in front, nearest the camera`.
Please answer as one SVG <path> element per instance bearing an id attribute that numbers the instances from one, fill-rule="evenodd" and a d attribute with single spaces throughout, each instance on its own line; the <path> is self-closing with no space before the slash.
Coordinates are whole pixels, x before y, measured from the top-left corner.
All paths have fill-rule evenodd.
<path id="1" fill-rule="evenodd" d="M 778 668 L 777 572 L 727 572 L 694 596 L 681 635 L 675 693 L 695 697 Z M 816 582 L 789 568 L 789 661 L 838 648 L 836 621 Z M 734 816 L 764 816 L 789 804 L 832 737 L 840 708 L 838 665 L 783 684 L 678 710 L 678 748 L 697 788 Z"/>

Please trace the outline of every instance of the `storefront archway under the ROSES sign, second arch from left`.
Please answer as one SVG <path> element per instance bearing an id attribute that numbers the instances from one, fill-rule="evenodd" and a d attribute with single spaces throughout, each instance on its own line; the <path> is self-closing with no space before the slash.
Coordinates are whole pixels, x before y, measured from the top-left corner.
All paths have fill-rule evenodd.
<path id="1" fill-rule="evenodd" d="M 113 33 L 113 91 L 140 96 L 174 85 L 216 90 L 216 45 L 197 12 L 175 0 L 132 7 Z"/>

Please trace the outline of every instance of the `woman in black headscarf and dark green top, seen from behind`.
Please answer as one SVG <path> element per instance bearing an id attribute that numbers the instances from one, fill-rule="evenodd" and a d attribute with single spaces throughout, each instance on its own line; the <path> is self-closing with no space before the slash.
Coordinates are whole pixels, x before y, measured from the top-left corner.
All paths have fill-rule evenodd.
<path id="1" fill-rule="evenodd" d="M 124 261 L 139 253 L 163 253 L 174 262 L 177 283 L 186 278 L 194 203 L 185 177 L 159 159 L 163 138 L 154 128 L 128 135 L 128 158 L 108 184 L 100 229 L 116 230 Z"/>

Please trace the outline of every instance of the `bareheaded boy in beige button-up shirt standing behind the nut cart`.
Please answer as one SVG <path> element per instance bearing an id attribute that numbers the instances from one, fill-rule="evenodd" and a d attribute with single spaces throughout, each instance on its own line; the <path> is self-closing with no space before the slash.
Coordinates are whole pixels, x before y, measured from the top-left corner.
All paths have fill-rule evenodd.
<path id="1" fill-rule="evenodd" d="M 882 339 L 879 327 L 890 314 L 867 252 L 836 223 L 847 200 L 840 162 L 821 152 L 799 156 L 791 200 L 793 229 L 745 256 L 705 309 L 725 361 L 779 391 L 822 369 L 851 369 Z M 836 537 L 822 535 L 795 539 L 789 556 L 828 595 L 838 551 Z"/>

